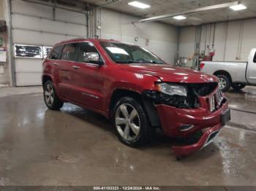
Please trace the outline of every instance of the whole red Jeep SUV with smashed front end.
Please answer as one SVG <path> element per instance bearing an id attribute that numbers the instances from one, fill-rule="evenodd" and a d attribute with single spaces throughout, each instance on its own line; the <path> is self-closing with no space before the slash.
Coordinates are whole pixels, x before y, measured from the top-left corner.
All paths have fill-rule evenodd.
<path id="1" fill-rule="evenodd" d="M 142 47 L 113 40 L 56 44 L 43 62 L 42 85 L 49 109 L 70 102 L 98 112 L 131 147 L 151 139 L 154 128 L 170 137 L 201 132 L 195 143 L 173 147 L 179 157 L 211 143 L 230 120 L 217 77 L 167 65 Z"/>

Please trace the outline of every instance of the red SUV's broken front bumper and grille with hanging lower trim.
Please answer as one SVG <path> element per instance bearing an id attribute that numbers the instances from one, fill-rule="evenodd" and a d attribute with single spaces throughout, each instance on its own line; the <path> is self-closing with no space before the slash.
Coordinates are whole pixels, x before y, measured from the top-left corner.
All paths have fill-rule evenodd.
<path id="1" fill-rule="evenodd" d="M 191 155 L 206 147 L 230 120 L 227 98 L 217 82 L 190 84 L 186 87 L 187 96 L 167 95 L 156 90 L 144 92 L 144 97 L 154 103 L 165 135 L 190 141 L 185 146 L 173 147 L 177 157 Z M 191 138 L 196 139 L 191 142 Z"/>

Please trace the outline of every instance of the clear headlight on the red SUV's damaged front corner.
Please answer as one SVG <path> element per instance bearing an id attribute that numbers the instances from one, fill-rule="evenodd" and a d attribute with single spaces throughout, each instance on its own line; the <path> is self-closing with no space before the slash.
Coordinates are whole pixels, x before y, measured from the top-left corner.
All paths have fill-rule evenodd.
<path id="1" fill-rule="evenodd" d="M 157 90 L 167 95 L 187 96 L 187 87 L 183 85 L 159 83 L 157 84 Z"/>

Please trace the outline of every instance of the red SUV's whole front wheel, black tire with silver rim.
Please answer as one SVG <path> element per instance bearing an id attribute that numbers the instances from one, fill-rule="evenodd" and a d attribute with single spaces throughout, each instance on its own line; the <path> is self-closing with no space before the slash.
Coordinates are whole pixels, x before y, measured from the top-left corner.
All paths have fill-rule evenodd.
<path id="1" fill-rule="evenodd" d="M 113 109 L 112 119 L 118 139 L 129 147 L 140 147 L 153 135 L 143 106 L 134 98 L 120 98 Z"/>

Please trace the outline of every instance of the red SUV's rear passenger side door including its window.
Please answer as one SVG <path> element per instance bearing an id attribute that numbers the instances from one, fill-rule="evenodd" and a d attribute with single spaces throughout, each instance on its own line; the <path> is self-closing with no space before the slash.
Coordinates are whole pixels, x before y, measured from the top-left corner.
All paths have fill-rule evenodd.
<path id="1" fill-rule="evenodd" d="M 77 101 L 73 77 L 78 69 L 78 43 L 65 44 L 59 61 L 59 91 L 70 101 Z"/>

